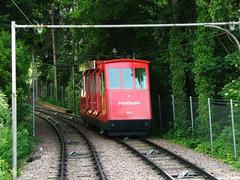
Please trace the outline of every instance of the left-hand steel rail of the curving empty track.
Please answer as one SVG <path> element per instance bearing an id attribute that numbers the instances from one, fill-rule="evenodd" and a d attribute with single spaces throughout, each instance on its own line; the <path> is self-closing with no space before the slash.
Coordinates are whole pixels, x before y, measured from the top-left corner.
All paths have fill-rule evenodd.
<path id="1" fill-rule="evenodd" d="M 65 145 L 65 139 L 64 136 L 62 134 L 62 132 L 59 130 L 59 128 L 57 127 L 57 124 L 52 123 L 47 117 L 40 115 L 40 114 L 36 114 L 37 116 L 41 117 L 42 119 L 44 119 L 45 121 L 47 121 L 53 128 L 54 130 L 57 132 L 58 134 L 58 138 L 60 140 L 60 144 L 61 144 L 61 156 L 60 156 L 60 161 L 61 163 L 59 163 L 59 178 L 60 180 L 64 180 L 66 177 L 66 172 L 65 172 L 65 162 L 66 162 L 66 145 Z"/>

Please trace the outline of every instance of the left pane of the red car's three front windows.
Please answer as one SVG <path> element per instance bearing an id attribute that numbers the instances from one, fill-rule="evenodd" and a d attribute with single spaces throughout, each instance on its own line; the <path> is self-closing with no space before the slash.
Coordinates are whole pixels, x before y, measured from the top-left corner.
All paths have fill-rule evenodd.
<path id="1" fill-rule="evenodd" d="M 119 68 L 109 68 L 109 87 L 111 89 L 120 89 L 120 69 Z"/>

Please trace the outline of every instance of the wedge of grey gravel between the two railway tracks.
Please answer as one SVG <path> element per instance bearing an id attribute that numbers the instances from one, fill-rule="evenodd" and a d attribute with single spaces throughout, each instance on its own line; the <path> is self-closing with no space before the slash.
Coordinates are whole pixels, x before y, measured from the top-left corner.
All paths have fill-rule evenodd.
<path id="1" fill-rule="evenodd" d="M 96 148 L 107 179 L 163 179 L 122 145 L 91 131 L 87 135 Z"/>

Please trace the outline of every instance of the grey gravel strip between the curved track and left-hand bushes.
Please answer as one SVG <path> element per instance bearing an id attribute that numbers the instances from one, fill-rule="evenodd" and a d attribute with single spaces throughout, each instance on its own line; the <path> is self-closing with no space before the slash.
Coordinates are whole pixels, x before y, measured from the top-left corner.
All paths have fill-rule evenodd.
<path id="1" fill-rule="evenodd" d="M 55 178 L 59 160 L 59 140 L 54 129 L 42 118 L 36 119 L 36 136 L 40 143 L 31 155 L 32 162 L 22 170 L 19 180 Z"/>

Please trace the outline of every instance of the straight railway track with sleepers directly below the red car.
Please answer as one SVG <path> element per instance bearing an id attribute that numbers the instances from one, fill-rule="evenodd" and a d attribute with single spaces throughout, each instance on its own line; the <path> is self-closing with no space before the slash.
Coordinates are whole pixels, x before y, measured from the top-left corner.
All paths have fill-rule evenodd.
<path id="1" fill-rule="evenodd" d="M 140 156 L 167 179 L 217 179 L 195 164 L 146 139 L 115 140 Z"/>

